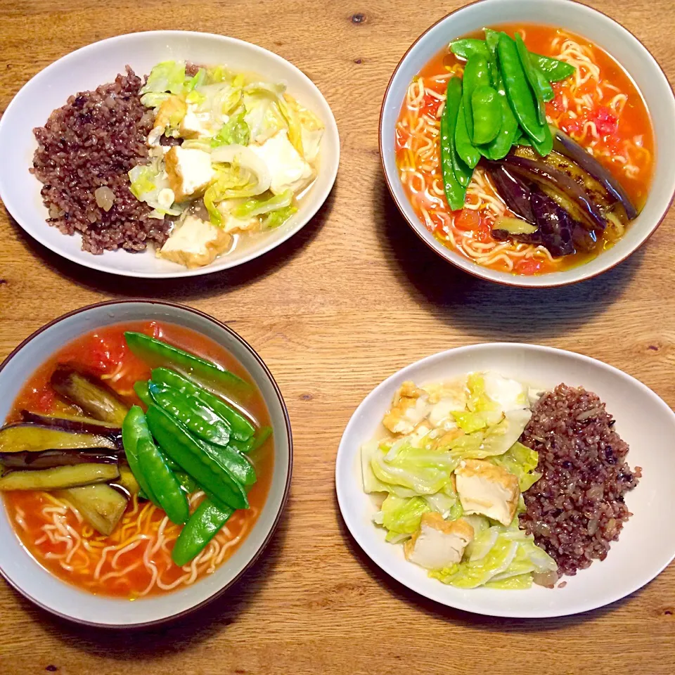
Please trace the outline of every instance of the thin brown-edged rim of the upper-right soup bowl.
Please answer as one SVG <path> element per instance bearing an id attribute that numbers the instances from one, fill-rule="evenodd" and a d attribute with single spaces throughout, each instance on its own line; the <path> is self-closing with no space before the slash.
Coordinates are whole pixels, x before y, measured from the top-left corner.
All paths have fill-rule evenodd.
<path id="1" fill-rule="evenodd" d="M 608 272 L 612 269 L 614 269 L 617 265 L 621 264 L 624 262 L 627 258 L 629 258 L 631 255 L 633 255 L 635 252 L 640 250 L 645 243 L 648 242 L 648 240 L 653 236 L 655 231 L 659 228 L 659 226 L 662 224 L 664 219 L 667 217 L 668 212 L 670 211 L 671 206 L 675 202 L 675 186 L 673 188 L 673 193 L 669 199 L 669 202 L 667 203 L 664 212 L 660 215 L 660 217 L 657 218 L 655 221 L 655 224 L 651 227 L 650 231 L 648 231 L 647 235 L 643 240 L 638 243 L 638 245 L 633 248 L 632 250 L 629 250 L 626 252 L 625 255 L 620 257 L 616 262 L 612 263 L 610 266 L 605 267 L 604 269 L 599 269 L 598 271 L 593 272 L 592 274 L 586 274 L 584 276 L 581 276 L 581 278 L 578 279 L 570 279 L 570 280 L 562 280 L 562 281 L 553 281 L 553 282 L 544 282 L 544 283 L 536 283 L 536 284 L 526 284 L 526 283 L 521 283 L 520 282 L 520 276 L 515 275 L 515 274 L 508 274 L 508 272 L 503 272 L 501 278 L 488 278 L 484 274 L 482 274 L 482 268 L 480 265 L 473 263 L 470 266 L 463 267 L 456 260 L 454 260 L 450 255 L 449 252 L 454 252 L 454 250 L 447 249 L 448 253 L 446 251 L 441 250 L 437 246 L 433 245 L 430 243 L 428 240 L 424 238 L 422 235 L 421 231 L 418 229 L 420 226 L 423 226 L 421 222 L 413 222 L 409 217 L 406 215 L 406 212 L 403 209 L 403 206 L 401 205 L 400 200 L 397 198 L 397 195 L 394 191 L 394 187 L 392 185 L 392 177 L 387 173 L 387 167 L 385 166 L 385 140 L 384 140 L 384 129 L 383 129 L 383 117 L 385 114 L 385 105 L 387 103 L 387 98 L 389 98 L 390 92 L 392 90 L 392 83 L 394 82 L 394 77 L 396 77 L 397 72 L 399 71 L 399 68 L 401 68 L 401 65 L 403 64 L 404 60 L 408 58 L 409 53 L 414 49 L 414 47 L 417 46 L 417 44 L 422 41 L 426 34 L 433 30 L 439 23 L 443 23 L 446 19 L 449 19 L 452 15 L 461 12 L 465 9 L 468 9 L 471 6 L 474 5 L 479 5 L 482 3 L 492 3 L 492 2 L 497 2 L 499 0 L 473 0 L 472 2 L 469 2 L 461 7 L 458 7 L 457 9 L 447 13 L 446 15 L 442 16 L 439 18 L 437 21 L 432 23 L 423 33 L 419 35 L 419 37 L 413 41 L 411 46 L 409 46 L 408 49 L 406 49 L 406 52 L 404 53 L 403 56 L 399 59 L 399 62 L 396 65 L 396 68 L 394 68 L 394 71 L 392 72 L 392 76 L 389 79 L 389 83 L 387 84 L 387 89 L 385 89 L 385 94 L 382 98 L 382 105 L 380 105 L 380 122 L 379 122 L 379 150 L 380 150 L 380 165 L 382 166 L 382 172 L 385 176 L 385 183 L 387 184 L 387 189 L 389 190 L 390 195 L 392 195 L 392 199 L 394 200 L 394 203 L 396 204 L 401 216 L 404 218 L 407 224 L 411 227 L 412 231 L 420 238 L 420 240 L 423 241 L 423 243 L 430 248 L 433 252 L 435 252 L 436 255 L 439 255 L 443 259 L 445 259 L 447 262 L 450 264 L 454 265 L 456 268 L 460 269 L 463 272 L 466 272 L 467 274 L 470 274 L 471 276 L 475 276 L 476 278 L 482 279 L 484 281 L 491 281 L 492 283 L 499 283 L 500 285 L 503 286 L 510 286 L 510 287 L 515 287 L 515 288 L 558 288 L 560 286 L 567 286 L 567 285 L 572 285 L 574 283 L 581 283 L 583 281 L 587 281 L 589 279 L 595 278 L 596 276 L 599 276 L 600 274 L 605 274 L 605 272 Z M 605 12 L 596 9 L 594 7 L 591 7 L 589 5 L 586 5 L 579 0 L 566 0 L 568 4 L 573 4 L 573 5 L 578 5 L 581 6 L 582 8 L 590 11 L 590 12 L 595 12 L 596 14 L 599 14 L 603 16 L 603 18 L 608 19 L 610 22 L 614 23 L 617 25 L 620 29 L 624 30 L 627 34 L 630 35 L 641 47 L 644 49 L 645 53 L 647 53 L 648 57 L 653 60 L 653 63 L 656 65 L 656 67 L 660 70 L 661 74 L 663 75 L 664 81 L 667 83 L 669 89 L 670 89 L 670 94 L 671 98 L 675 102 L 675 89 L 673 88 L 673 85 L 670 84 L 670 80 L 668 79 L 665 71 L 663 70 L 662 66 L 660 63 L 656 60 L 656 58 L 653 56 L 653 54 L 642 44 L 641 40 L 638 39 L 630 30 L 628 30 L 624 25 L 619 23 L 617 20 L 613 19 L 610 15 L 606 14 Z M 611 54 L 610 54 L 611 56 Z M 621 65 L 621 64 L 619 64 Z M 639 90 L 638 90 L 639 91 Z M 649 112 L 649 110 L 648 110 Z M 440 246 L 440 245 L 439 245 Z M 456 254 L 456 255 L 461 255 L 461 254 Z M 471 261 L 469 261 L 471 262 Z M 548 274 L 538 276 L 536 278 L 541 278 L 541 279 L 546 279 Z"/>

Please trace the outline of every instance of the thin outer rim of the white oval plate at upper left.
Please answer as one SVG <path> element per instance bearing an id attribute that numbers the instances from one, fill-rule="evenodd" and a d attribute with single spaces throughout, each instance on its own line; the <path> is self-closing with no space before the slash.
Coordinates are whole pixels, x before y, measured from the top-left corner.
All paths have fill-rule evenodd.
<path id="1" fill-rule="evenodd" d="M 317 86 L 314 81 L 305 74 L 303 70 L 297 67 L 294 63 L 291 63 L 288 59 L 283 58 L 283 56 L 280 56 L 274 51 L 271 51 L 269 49 L 266 49 L 265 47 L 260 46 L 259 44 L 255 44 L 253 42 L 248 42 L 246 40 L 242 40 L 238 37 L 231 37 L 229 35 L 222 35 L 222 34 L 217 34 L 217 33 L 211 33 L 211 32 L 206 32 L 206 31 L 200 31 L 200 30 L 143 30 L 143 31 L 137 31 L 137 32 L 127 32 L 127 33 L 122 33 L 119 35 L 112 35 L 110 37 L 103 38 L 101 40 L 96 40 L 94 42 L 90 42 L 89 44 L 84 44 L 77 49 L 74 49 L 72 51 L 69 51 L 68 53 L 63 54 L 63 56 L 60 56 L 56 60 L 53 60 L 51 63 L 46 65 L 44 68 L 36 72 L 30 79 L 28 79 L 26 82 L 23 83 L 23 85 L 20 87 L 18 91 L 15 92 L 15 94 L 12 96 L 11 101 L 8 103 L 7 108 L 4 110 L 3 115 L 0 117 L 0 139 L 2 138 L 3 134 L 3 129 L 4 126 L 6 126 L 6 123 L 4 124 L 5 120 L 9 119 L 7 113 L 13 111 L 13 108 L 16 106 L 16 101 L 19 98 L 21 92 L 23 89 L 25 89 L 26 86 L 28 86 L 34 79 L 37 77 L 46 77 L 46 75 L 51 72 L 53 68 L 56 68 L 58 64 L 66 61 L 68 62 L 69 60 L 72 60 L 74 58 L 80 58 L 82 56 L 86 56 L 89 51 L 94 51 L 97 48 L 100 48 L 101 45 L 103 44 L 108 44 L 111 42 L 123 42 L 124 40 L 133 40 L 133 39 L 143 39 L 143 37 L 151 37 L 151 36 L 158 36 L 158 37 L 167 37 L 169 39 L 170 37 L 192 37 L 192 38 L 207 38 L 207 39 L 217 39 L 218 41 L 224 42 L 224 43 L 229 43 L 229 44 L 237 44 L 239 46 L 245 46 L 246 48 L 253 49 L 254 51 L 257 51 L 258 53 L 261 53 L 264 55 L 266 58 L 269 58 L 271 60 L 276 60 L 278 63 L 282 63 L 285 68 L 290 68 L 290 70 L 295 71 L 295 73 L 300 77 L 300 79 L 304 80 L 304 83 L 309 87 L 309 89 L 313 89 L 314 92 L 319 96 L 321 101 L 325 103 L 326 105 L 326 111 L 328 112 L 328 118 L 327 119 L 322 119 L 321 121 L 324 123 L 324 127 L 326 131 L 330 129 L 331 133 L 335 133 L 335 141 L 336 141 L 336 147 L 335 147 L 335 152 L 330 154 L 330 162 L 320 162 L 319 164 L 319 172 L 326 172 L 328 176 L 328 183 L 326 184 L 326 188 L 319 193 L 319 198 L 317 200 L 316 208 L 312 209 L 310 208 L 309 211 L 307 212 L 307 216 L 302 217 L 301 220 L 304 220 L 302 225 L 300 226 L 295 226 L 295 229 L 288 229 L 287 232 L 283 233 L 283 236 L 278 239 L 274 243 L 274 245 L 270 246 L 269 248 L 266 248 L 269 245 L 265 245 L 261 250 L 256 251 L 252 250 L 251 252 L 248 252 L 244 257 L 237 262 L 234 263 L 227 263 L 227 257 L 226 256 L 221 256 L 219 258 L 214 259 L 214 261 L 208 265 L 197 267 L 197 268 L 187 268 L 187 267 L 180 267 L 180 269 L 176 269 L 176 271 L 167 271 L 167 272 L 153 272 L 153 271 L 141 271 L 141 272 L 136 272 L 136 271 L 130 271 L 130 270 L 125 270 L 125 269 L 112 269 L 114 265 L 112 264 L 103 264 L 103 262 L 98 262 L 96 259 L 96 256 L 93 254 L 90 254 L 91 260 L 89 258 L 85 259 L 79 259 L 77 254 L 82 253 L 82 250 L 78 250 L 76 254 L 73 254 L 72 252 L 69 251 L 61 251 L 61 250 L 55 250 L 46 239 L 41 236 L 41 229 L 37 230 L 37 233 L 33 231 L 29 231 L 18 219 L 15 217 L 14 212 L 18 212 L 18 209 L 14 208 L 14 201 L 13 197 L 9 194 L 10 191 L 8 190 L 2 190 L 2 175 L 0 174 L 0 199 L 2 200 L 2 203 L 4 203 L 4 206 L 8 213 L 11 215 L 12 219 L 18 224 L 18 226 L 29 236 L 31 239 L 37 241 L 41 246 L 44 246 L 47 250 L 49 250 L 51 253 L 58 255 L 66 260 L 69 260 L 70 262 L 74 262 L 75 264 L 78 264 L 85 269 L 94 269 L 98 272 L 103 272 L 103 274 L 110 274 L 113 276 L 127 276 L 129 278 L 149 278 L 149 279 L 174 279 L 174 278 L 188 278 L 188 277 L 193 277 L 193 276 L 203 276 L 206 274 L 214 274 L 217 272 L 224 272 L 230 269 L 236 269 L 237 267 L 246 264 L 248 262 L 251 262 L 252 260 L 255 260 L 259 257 L 262 257 L 266 255 L 267 253 L 271 252 L 271 250 L 274 250 L 275 248 L 278 248 L 281 244 L 283 244 L 285 241 L 288 239 L 292 238 L 295 236 L 297 233 L 300 232 L 307 224 L 309 224 L 309 221 L 314 219 L 316 217 L 316 214 L 321 210 L 321 207 L 326 203 L 326 200 L 330 196 L 330 193 L 333 191 L 333 188 L 335 186 L 335 181 L 338 178 L 338 170 L 340 168 L 340 130 L 338 129 L 338 123 L 335 121 L 335 115 L 333 113 L 333 109 L 330 107 L 330 104 L 328 103 L 328 100 L 326 99 L 326 96 L 323 95 L 323 92 L 321 89 L 319 89 L 319 86 Z M 65 102 L 64 102 L 65 104 Z M 29 163 L 29 167 L 30 167 Z M 319 174 L 317 174 L 318 176 Z M 35 179 L 37 180 L 37 179 Z M 38 182 L 39 184 L 39 182 Z M 314 186 L 310 186 L 309 189 L 309 194 L 311 194 L 311 190 L 314 188 Z M 307 195 L 309 196 L 309 195 Z M 43 205 L 44 208 L 44 205 Z M 298 214 L 302 212 L 302 205 L 298 209 Z M 44 210 L 44 214 L 46 215 L 46 210 Z M 44 220 L 44 218 L 42 219 Z M 49 226 L 48 224 L 44 223 L 46 226 Z M 66 236 L 66 235 L 63 235 Z M 79 231 L 75 232 L 73 236 L 81 236 L 81 233 Z M 124 252 L 124 251 L 122 251 Z M 148 249 L 142 251 L 142 253 L 147 253 Z M 217 263 L 218 261 L 221 261 L 221 265 L 218 266 Z"/>

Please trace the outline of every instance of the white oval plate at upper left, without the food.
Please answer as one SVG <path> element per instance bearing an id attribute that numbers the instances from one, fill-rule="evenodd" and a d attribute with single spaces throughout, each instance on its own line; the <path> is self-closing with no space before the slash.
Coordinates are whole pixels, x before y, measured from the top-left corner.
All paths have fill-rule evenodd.
<path id="1" fill-rule="evenodd" d="M 285 82 L 288 92 L 318 115 L 326 131 L 321 141 L 319 176 L 301 200 L 300 210 L 288 223 L 255 246 L 217 258 L 198 269 L 155 258 L 151 251 L 131 254 L 106 251 L 91 255 L 81 250 L 79 235 L 61 234 L 46 224 L 47 211 L 42 204 L 42 184 L 28 169 L 37 142 L 34 127 L 42 127 L 55 108 L 65 105 L 68 96 L 99 84 L 113 82 L 118 72 L 129 64 L 137 75 L 147 75 L 162 60 L 191 60 L 206 65 L 224 64 L 233 70 L 257 72 L 274 82 Z M 92 269 L 112 274 L 145 278 L 173 278 L 209 274 L 248 262 L 292 237 L 316 214 L 328 197 L 338 174 L 340 139 L 335 118 L 321 91 L 307 75 L 277 56 L 232 37 L 188 31 L 158 30 L 113 37 L 74 51 L 60 58 L 28 82 L 8 105 L 0 120 L 0 196 L 13 218 L 53 252 Z"/>

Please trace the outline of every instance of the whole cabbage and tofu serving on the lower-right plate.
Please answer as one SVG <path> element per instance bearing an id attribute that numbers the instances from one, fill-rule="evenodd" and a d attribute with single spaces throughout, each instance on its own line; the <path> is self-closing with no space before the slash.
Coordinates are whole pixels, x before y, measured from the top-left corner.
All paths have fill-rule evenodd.
<path id="1" fill-rule="evenodd" d="M 364 491 L 385 539 L 430 577 L 462 589 L 550 583 L 555 562 L 522 531 L 538 456 L 518 442 L 539 392 L 496 373 L 401 385 L 387 435 L 361 448 Z"/>

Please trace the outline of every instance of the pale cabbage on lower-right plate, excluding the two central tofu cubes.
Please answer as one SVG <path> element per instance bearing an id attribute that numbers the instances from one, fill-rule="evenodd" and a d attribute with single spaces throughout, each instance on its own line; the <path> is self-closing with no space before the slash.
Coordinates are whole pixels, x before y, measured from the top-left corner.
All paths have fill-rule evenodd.
<path id="1" fill-rule="evenodd" d="M 399 544 L 420 528 L 423 514 L 465 518 L 475 539 L 460 563 L 430 576 L 458 588 L 525 589 L 532 574 L 556 569 L 555 562 L 518 529 L 484 515 L 464 515 L 454 471 L 468 459 L 483 459 L 518 478 L 521 491 L 539 479 L 536 451 L 518 442 L 536 396 L 495 373 L 470 373 L 451 383 L 416 387 L 404 383 L 383 419 L 385 437 L 361 448 L 364 491 L 384 493 L 373 520 Z M 522 496 L 518 512 L 524 510 Z"/>

